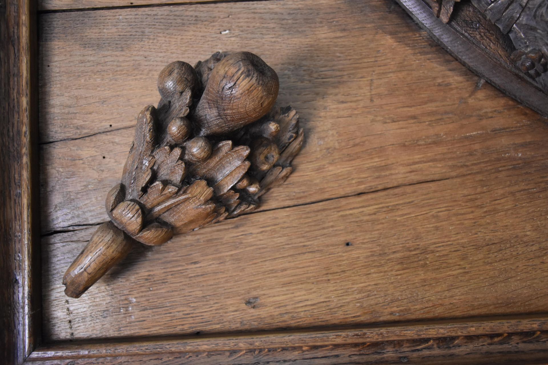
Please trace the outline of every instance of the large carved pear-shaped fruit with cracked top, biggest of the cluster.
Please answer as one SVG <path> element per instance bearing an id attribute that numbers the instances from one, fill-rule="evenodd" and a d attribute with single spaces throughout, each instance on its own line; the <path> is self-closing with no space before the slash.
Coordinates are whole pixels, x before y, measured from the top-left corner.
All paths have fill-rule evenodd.
<path id="1" fill-rule="evenodd" d="M 274 105 L 278 89 L 278 75 L 259 56 L 226 56 L 215 65 L 196 107 L 200 134 L 222 135 L 260 119 Z"/>

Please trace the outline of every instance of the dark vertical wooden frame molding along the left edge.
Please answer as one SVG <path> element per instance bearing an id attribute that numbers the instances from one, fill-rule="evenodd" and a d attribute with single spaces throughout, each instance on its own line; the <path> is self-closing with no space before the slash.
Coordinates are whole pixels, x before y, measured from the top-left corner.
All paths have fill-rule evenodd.
<path id="1" fill-rule="evenodd" d="M 7 364 L 22 363 L 41 337 L 41 283 L 36 206 L 37 39 L 33 0 L 1 4 L 0 169 L 2 255 L 0 352 Z"/>

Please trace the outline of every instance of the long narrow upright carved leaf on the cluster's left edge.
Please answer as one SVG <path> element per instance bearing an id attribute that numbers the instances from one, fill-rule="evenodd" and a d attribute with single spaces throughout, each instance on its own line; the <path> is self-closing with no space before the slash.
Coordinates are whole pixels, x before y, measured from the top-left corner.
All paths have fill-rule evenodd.
<path id="1" fill-rule="evenodd" d="M 144 108 L 137 118 L 135 138 L 125 161 L 122 184 L 125 187 L 125 199 L 137 199 L 141 191 L 142 182 L 148 182 L 152 161 L 147 158 L 152 153 L 156 143 L 156 108 L 149 105 Z M 147 179 L 147 176 L 149 178 Z"/>

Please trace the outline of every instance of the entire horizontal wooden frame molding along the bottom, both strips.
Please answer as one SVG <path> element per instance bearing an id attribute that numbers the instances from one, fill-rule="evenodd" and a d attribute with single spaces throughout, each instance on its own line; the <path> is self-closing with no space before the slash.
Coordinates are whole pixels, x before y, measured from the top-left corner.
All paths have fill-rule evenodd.
<path id="1" fill-rule="evenodd" d="M 522 318 L 346 330 L 112 340 L 44 346 L 28 358 L 79 364 L 533 364 L 548 356 L 547 319 Z M 50 362 L 48 362 L 50 363 Z"/>

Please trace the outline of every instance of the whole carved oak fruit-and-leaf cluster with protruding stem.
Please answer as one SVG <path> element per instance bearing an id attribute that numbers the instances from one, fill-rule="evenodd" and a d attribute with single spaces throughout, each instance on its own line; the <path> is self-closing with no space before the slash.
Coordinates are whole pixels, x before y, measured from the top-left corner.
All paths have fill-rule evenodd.
<path id="1" fill-rule="evenodd" d="M 195 67 L 175 61 L 158 77 L 158 107 L 145 107 L 122 181 L 101 224 L 67 269 L 80 297 L 138 242 L 157 246 L 255 210 L 283 183 L 302 145 L 299 116 L 274 107 L 278 76 L 249 52 L 222 52 Z"/>

